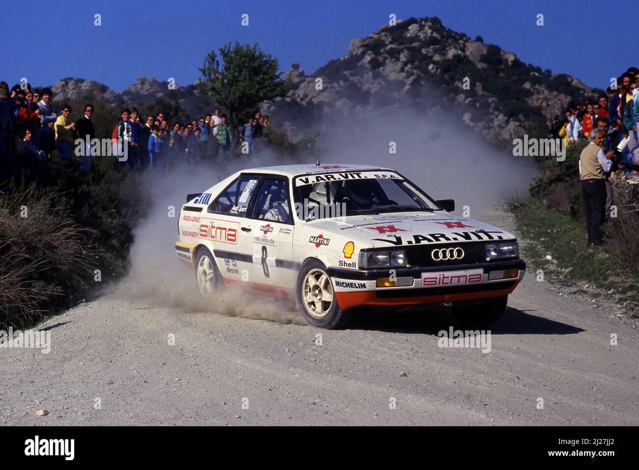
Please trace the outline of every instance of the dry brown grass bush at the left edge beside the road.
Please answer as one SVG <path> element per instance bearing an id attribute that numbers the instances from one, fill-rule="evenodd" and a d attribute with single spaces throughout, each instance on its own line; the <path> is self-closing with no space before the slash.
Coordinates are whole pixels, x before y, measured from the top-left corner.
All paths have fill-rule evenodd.
<path id="1" fill-rule="evenodd" d="M 87 292 L 90 235 L 56 194 L 33 186 L 0 194 L 0 327 L 24 327 Z"/>

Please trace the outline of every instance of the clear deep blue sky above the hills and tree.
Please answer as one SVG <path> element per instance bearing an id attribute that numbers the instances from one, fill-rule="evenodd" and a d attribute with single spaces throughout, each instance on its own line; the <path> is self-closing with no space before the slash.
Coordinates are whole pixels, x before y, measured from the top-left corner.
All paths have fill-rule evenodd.
<path id="1" fill-rule="evenodd" d="M 22 5 L 22 6 L 20 6 Z M 346 54 L 351 39 L 398 19 L 437 16 L 443 25 L 514 52 L 525 63 L 606 88 L 631 63 L 632 23 L 620 26 L 621 3 L 447 0 L 34 0 L 6 6 L 0 17 L 0 79 L 36 86 L 64 77 L 96 80 L 121 91 L 139 76 L 200 76 L 206 53 L 226 42 L 257 42 L 280 61 L 311 73 Z M 627 4 L 626 4 L 627 6 Z M 28 15 L 19 8 L 31 10 Z M 94 15 L 102 26 L 94 26 Z M 249 26 L 241 26 L 243 13 Z M 536 15 L 544 26 L 536 26 Z M 22 20 L 24 18 L 24 20 Z M 632 18 L 629 15 L 627 18 Z M 614 31 L 618 31 L 617 34 Z M 639 60 L 636 60 L 639 62 Z"/>

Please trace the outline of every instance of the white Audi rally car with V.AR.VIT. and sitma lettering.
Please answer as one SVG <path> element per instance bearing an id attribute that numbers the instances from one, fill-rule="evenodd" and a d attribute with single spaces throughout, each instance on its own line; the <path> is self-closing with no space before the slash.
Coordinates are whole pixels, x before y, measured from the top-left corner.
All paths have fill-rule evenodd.
<path id="1" fill-rule="evenodd" d="M 175 249 L 201 294 L 240 282 L 294 295 L 317 327 L 410 304 L 493 324 L 526 265 L 514 235 L 452 210 L 388 168 L 247 169 L 187 196 Z"/>

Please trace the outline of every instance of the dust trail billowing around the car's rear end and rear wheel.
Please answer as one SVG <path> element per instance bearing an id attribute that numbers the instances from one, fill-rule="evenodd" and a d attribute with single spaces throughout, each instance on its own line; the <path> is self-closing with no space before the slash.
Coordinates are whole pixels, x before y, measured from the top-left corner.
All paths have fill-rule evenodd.
<path id="1" fill-rule="evenodd" d="M 262 159 L 252 158 L 240 162 L 242 167 L 233 163 L 224 168 L 185 164 L 173 173 L 146 171 L 141 175 L 148 214 L 134 230 L 130 272 L 118 286 L 119 295 L 150 306 L 305 324 L 298 312 L 290 311 L 288 301 L 247 292 L 240 286 L 227 286 L 224 294 L 213 301 L 203 299 L 197 292 L 192 270 L 176 263 L 173 245 L 187 193 L 204 191 L 240 168 L 263 164 Z"/>

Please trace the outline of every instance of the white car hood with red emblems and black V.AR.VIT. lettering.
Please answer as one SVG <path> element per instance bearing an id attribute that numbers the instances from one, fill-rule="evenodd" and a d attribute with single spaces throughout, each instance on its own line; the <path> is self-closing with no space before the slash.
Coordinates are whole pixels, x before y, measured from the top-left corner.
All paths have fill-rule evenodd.
<path id="1" fill-rule="evenodd" d="M 321 219 L 307 224 L 380 248 L 417 244 L 497 242 L 516 238 L 512 233 L 495 226 L 443 211 L 355 215 Z"/>

